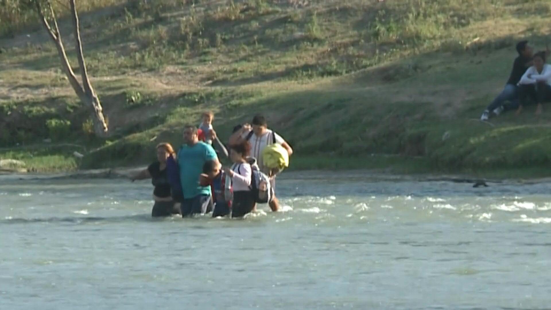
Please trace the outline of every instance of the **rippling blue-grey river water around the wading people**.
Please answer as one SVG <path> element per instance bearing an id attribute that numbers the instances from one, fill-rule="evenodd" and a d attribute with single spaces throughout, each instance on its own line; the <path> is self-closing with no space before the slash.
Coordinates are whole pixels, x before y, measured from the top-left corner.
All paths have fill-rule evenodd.
<path id="1" fill-rule="evenodd" d="M 152 220 L 152 186 L 0 179 L 1 309 L 533 309 L 551 184 L 287 173 L 283 212 Z"/>

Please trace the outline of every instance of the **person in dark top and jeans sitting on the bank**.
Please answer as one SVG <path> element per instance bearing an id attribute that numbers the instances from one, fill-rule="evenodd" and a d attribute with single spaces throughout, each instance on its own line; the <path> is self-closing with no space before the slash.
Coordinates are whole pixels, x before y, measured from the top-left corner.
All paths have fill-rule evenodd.
<path id="1" fill-rule="evenodd" d="M 522 74 L 526 72 L 528 67 L 532 66 L 532 46 L 528 45 L 528 41 L 518 42 L 516 45 L 518 57 L 513 62 L 513 67 L 509 80 L 505 84 L 503 91 L 488 105 L 488 108 L 484 110 L 480 120 L 486 121 L 490 117 L 490 112 L 499 115 L 505 109 L 518 108 L 518 82 L 520 81 Z M 510 101 L 510 105 L 505 105 L 506 101 Z"/>

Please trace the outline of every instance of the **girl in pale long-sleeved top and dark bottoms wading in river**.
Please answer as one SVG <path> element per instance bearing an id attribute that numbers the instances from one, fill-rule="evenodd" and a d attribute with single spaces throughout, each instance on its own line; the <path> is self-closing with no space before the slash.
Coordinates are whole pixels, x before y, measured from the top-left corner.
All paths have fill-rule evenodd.
<path id="1" fill-rule="evenodd" d="M 242 217 L 250 213 L 255 207 L 255 199 L 250 188 L 252 169 L 246 161 L 250 150 L 251 146 L 247 141 L 230 146 L 230 158 L 234 164 L 231 165 L 231 168 L 226 168 L 225 171 L 231 177 L 234 189 L 231 217 Z"/>

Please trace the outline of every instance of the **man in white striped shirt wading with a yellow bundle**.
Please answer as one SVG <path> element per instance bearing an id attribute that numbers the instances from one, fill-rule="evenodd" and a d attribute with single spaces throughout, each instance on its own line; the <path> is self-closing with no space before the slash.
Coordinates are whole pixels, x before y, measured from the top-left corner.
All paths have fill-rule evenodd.
<path id="1" fill-rule="evenodd" d="M 262 162 L 262 151 L 268 145 L 278 143 L 287 150 L 289 156 L 293 154 L 293 149 L 289 146 L 289 143 L 285 142 L 281 136 L 276 132 L 268 129 L 266 118 L 262 115 L 256 115 L 252 119 L 252 126 L 245 124 L 240 130 L 237 130 L 230 137 L 230 145 L 241 143 L 242 141 L 249 141 L 251 144 L 251 156 L 256 158 L 258 167 L 263 173 L 266 173 L 270 177 L 272 188 L 276 190 L 276 175 L 274 175 L 268 168 L 264 167 Z M 273 200 L 269 203 L 272 211 L 279 210 L 279 200 L 274 195 Z"/>

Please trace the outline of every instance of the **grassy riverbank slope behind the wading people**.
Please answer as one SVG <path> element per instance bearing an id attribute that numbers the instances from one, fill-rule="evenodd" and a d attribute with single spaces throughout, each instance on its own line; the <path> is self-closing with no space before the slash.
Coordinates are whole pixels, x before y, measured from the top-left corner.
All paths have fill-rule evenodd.
<path id="1" fill-rule="evenodd" d="M 544 47 L 548 1 L 156 3 L 82 14 L 105 140 L 90 135 L 44 31 L 4 35 L 0 158 L 39 172 L 144 164 L 209 109 L 223 138 L 266 114 L 295 148 L 293 169 L 548 175 L 551 108 L 478 121 L 515 42 Z"/>

